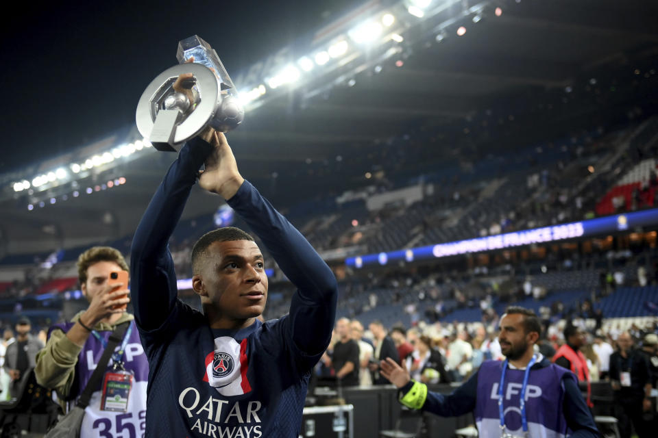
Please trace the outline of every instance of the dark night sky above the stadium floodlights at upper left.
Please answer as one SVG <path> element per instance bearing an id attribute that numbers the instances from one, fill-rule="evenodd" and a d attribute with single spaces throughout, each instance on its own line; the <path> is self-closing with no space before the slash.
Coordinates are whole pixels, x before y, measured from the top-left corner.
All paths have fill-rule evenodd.
<path id="1" fill-rule="evenodd" d="M 4 14 L 2 27 L 0 172 L 71 151 L 134 123 L 144 88 L 177 63 L 182 38 L 204 38 L 235 76 L 361 3 L 12 3 L 19 9 Z"/>

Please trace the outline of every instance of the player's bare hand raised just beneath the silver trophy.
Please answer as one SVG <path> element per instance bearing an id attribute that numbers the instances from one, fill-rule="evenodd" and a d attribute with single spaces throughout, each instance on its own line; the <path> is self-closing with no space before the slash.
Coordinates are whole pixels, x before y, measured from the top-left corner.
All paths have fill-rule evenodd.
<path id="1" fill-rule="evenodd" d="M 205 140 L 205 139 L 204 139 Z M 215 150 L 206 158 L 206 170 L 199 176 L 199 185 L 208 192 L 217 193 L 230 199 L 238 191 L 245 179 L 238 171 L 231 146 L 221 132 L 212 131 L 210 144 Z"/>

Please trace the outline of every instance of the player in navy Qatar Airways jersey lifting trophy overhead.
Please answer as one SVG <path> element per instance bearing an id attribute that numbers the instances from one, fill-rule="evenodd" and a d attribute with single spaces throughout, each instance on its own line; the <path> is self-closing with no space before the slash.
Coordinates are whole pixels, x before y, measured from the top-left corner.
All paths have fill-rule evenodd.
<path id="1" fill-rule="evenodd" d="M 267 299 L 263 254 L 232 227 L 206 233 L 192 250 L 203 313 L 178 300 L 167 242 L 197 177 L 249 224 L 297 287 L 289 315 L 258 320 Z M 297 437 L 308 378 L 330 342 L 337 282 L 243 179 L 222 133 L 208 129 L 181 149 L 136 230 L 131 272 L 151 369 L 147 437 Z"/>

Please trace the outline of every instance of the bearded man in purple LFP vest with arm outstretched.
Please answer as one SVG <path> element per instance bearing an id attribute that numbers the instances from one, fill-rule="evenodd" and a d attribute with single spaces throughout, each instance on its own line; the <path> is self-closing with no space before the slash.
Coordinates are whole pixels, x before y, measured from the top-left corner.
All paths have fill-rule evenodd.
<path id="1" fill-rule="evenodd" d="M 400 389 L 400 402 L 407 407 L 445 417 L 474 411 L 480 438 L 598 437 L 576 376 L 534 352 L 540 334 L 533 311 L 509 307 L 499 335 L 507 359 L 485 361 L 448 396 L 411 380 L 391 359 L 382 361 L 381 373 Z"/>

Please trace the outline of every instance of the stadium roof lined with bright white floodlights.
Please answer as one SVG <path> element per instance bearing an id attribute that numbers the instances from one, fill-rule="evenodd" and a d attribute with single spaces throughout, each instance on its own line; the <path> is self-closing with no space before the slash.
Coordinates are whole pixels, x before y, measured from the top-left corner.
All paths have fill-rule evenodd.
<path id="1" fill-rule="evenodd" d="M 379 151 L 406 147 L 396 141 L 416 131 L 438 134 L 426 145 L 431 159 L 409 162 L 411 172 L 463 145 L 509 152 L 618 123 L 637 102 L 655 104 L 655 80 L 653 94 L 649 85 L 624 87 L 655 63 L 657 22 L 658 3 L 643 0 L 370 1 L 303 47 L 236 75 L 249 104 L 229 142 L 243 175 L 291 205 L 365 184 L 364 172 L 386 170 Z M 137 151 L 136 140 L 134 127 L 117 127 L 66 156 L 0 175 L 0 255 L 130 235 L 175 158 L 142 144 Z M 127 144 L 132 150 L 121 153 Z M 95 155 L 98 166 L 71 173 Z M 359 168 L 352 157 L 373 162 Z M 62 184 L 13 190 L 60 167 Z M 214 211 L 209 196 L 193 190 L 185 216 Z"/>

